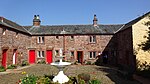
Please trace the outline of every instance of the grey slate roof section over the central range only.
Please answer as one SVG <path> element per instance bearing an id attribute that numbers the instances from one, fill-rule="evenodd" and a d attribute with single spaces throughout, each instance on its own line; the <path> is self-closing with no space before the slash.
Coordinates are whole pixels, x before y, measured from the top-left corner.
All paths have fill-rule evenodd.
<path id="1" fill-rule="evenodd" d="M 24 26 L 32 35 L 55 34 L 114 34 L 123 24 L 119 25 L 52 25 Z"/>

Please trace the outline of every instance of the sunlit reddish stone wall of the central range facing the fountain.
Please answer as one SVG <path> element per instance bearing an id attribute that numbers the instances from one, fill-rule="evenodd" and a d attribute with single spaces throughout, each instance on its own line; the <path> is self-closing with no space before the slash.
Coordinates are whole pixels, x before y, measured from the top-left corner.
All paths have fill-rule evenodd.
<path id="1" fill-rule="evenodd" d="M 66 60 L 71 59 L 71 51 L 74 51 L 74 60 L 77 60 L 77 51 L 83 51 L 84 60 L 95 61 L 96 59 L 89 59 L 89 52 L 95 51 L 96 55 L 102 53 L 112 38 L 112 35 L 96 35 L 96 43 L 90 43 L 90 35 L 73 35 L 73 38 L 71 35 L 58 35 L 58 38 L 56 36 L 44 36 L 44 43 L 37 43 L 38 36 L 32 36 L 31 45 L 36 51 L 46 51 L 50 47 L 53 51 L 53 61 L 57 60 L 55 50 L 60 48 L 64 49 Z"/>

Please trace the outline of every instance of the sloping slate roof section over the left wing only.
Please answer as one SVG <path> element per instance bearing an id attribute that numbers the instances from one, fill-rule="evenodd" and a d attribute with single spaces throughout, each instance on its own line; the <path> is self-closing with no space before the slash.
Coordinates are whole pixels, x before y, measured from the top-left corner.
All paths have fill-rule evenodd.
<path id="1" fill-rule="evenodd" d="M 4 25 L 4 26 L 7 26 L 11 29 L 15 29 L 15 30 L 18 30 L 20 32 L 29 34 L 29 32 L 23 26 L 20 26 L 19 24 L 12 22 L 10 20 L 7 20 L 3 17 L 0 17 L 0 25 Z"/>

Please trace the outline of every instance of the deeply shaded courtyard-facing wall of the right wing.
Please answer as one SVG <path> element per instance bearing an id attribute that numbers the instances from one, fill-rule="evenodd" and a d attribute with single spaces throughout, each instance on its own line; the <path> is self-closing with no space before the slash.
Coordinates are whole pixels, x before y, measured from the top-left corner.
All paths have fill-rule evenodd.
<path id="1" fill-rule="evenodd" d="M 117 39 L 117 64 L 123 67 L 135 68 L 135 56 L 133 55 L 132 27 L 116 34 Z"/>

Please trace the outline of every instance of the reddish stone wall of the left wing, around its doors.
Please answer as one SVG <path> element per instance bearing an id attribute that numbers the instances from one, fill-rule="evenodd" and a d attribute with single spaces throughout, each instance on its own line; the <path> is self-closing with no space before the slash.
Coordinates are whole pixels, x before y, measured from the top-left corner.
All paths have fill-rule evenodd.
<path id="1" fill-rule="evenodd" d="M 3 35 L 3 29 L 6 29 Z M 7 49 L 6 64 L 13 63 L 13 52 L 17 50 L 16 64 L 20 64 L 23 60 L 28 60 L 27 47 L 30 45 L 31 37 L 24 35 L 16 30 L 11 30 L 8 27 L 0 26 L 0 63 L 2 61 L 2 52 Z"/>

